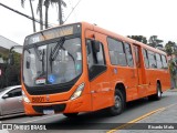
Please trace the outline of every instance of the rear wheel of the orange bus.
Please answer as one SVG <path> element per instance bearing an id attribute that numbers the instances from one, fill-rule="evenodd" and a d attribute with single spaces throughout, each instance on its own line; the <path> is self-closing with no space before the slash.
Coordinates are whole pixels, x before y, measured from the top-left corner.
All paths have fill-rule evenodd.
<path id="1" fill-rule="evenodd" d="M 153 94 L 153 95 L 149 95 L 148 96 L 149 100 L 160 100 L 162 99 L 162 88 L 160 88 L 160 84 L 157 83 L 157 86 L 156 86 L 156 94 Z"/>

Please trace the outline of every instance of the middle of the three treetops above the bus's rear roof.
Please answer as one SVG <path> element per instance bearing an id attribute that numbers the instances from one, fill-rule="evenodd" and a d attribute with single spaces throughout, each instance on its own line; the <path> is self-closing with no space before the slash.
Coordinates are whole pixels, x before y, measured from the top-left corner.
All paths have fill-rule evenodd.
<path id="1" fill-rule="evenodd" d="M 148 40 L 148 45 L 153 47 L 153 48 L 157 48 L 158 45 L 160 45 L 162 42 L 164 42 L 163 40 L 157 39 L 157 35 L 152 35 Z"/>

